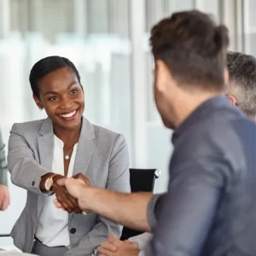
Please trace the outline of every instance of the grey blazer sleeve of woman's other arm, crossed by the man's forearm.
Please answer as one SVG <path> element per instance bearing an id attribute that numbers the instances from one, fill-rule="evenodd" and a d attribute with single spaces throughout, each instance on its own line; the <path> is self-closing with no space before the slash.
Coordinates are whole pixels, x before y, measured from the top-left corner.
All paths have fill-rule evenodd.
<path id="1" fill-rule="evenodd" d="M 125 138 L 119 135 L 113 145 L 110 157 L 107 189 L 126 193 L 131 192 L 129 166 L 129 154 Z M 70 249 L 64 256 L 94 255 L 94 249 L 100 246 L 102 241 L 108 240 L 108 235 L 121 236 L 122 225 L 101 216 L 98 219 L 99 222 L 81 239 L 79 245 Z"/>

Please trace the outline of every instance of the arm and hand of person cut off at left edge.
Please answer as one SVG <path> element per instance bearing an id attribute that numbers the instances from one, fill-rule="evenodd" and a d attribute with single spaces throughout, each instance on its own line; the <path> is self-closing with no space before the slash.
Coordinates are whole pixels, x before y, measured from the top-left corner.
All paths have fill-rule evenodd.
<path id="1" fill-rule="evenodd" d="M 0 131 L 0 211 L 6 210 L 10 203 L 7 172 L 3 137 Z"/>

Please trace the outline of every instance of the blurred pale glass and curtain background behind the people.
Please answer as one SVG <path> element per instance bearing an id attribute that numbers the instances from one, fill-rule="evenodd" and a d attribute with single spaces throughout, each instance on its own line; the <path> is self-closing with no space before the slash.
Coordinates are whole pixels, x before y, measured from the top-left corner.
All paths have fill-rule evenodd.
<path id="1" fill-rule="evenodd" d="M 152 94 L 148 38 L 154 23 L 173 12 L 200 9 L 230 29 L 230 49 L 256 55 L 253 0 L 0 0 L 0 125 L 4 143 L 15 122 L 43 119 L 28 76 L 48 55 L 69 58 L 85 90 L 84 115 L 125 135 L 131 166 L 158 168 L 156 190 L 166 190 L 171 135 Z M 182 102 L 181 102 L 182 104 Z M 0 235 L 19 217 L 26 192 L 10 185 L 11 206 L 0 212 Z M 0 247 L 12 247 L 0 238 Z"/>

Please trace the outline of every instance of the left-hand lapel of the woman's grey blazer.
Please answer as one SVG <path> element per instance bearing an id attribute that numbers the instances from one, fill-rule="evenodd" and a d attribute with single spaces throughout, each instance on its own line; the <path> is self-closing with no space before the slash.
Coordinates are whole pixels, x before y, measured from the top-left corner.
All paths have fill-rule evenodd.
<path id="1" fill-rule="evenodd" d="M 54 133 L 52 122 L 50 119 L 45 119 L 39 131 L 38 154 L 40 165 L 44 166 L 51 172 L 53 157 L 54 157 Z M 44 206 L 44 196 L 38 196 L 38 216 Z"/>

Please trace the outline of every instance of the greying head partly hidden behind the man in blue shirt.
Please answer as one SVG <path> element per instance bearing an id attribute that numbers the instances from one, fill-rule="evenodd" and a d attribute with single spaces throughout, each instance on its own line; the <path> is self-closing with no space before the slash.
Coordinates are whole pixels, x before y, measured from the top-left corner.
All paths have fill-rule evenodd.
<path id="1" fill-rule="evenodd" d="M 226 92 L 236 97 L 237 104 L 249 117 L 256 116 L 256 59 L 253 55 L 229 52 L 227 65 L 230 83 Z"/>

